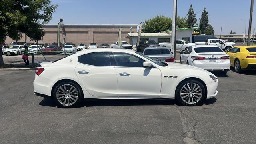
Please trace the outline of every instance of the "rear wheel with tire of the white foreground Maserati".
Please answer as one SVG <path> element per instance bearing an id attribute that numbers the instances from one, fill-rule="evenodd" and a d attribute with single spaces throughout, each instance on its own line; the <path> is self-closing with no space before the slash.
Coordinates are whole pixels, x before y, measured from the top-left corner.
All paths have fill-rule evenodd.
<path id="1" fill-rule="evenodd" d="M 54 88 L 53 98 L 58 106 L 71 108 L 77 106 L 84 98 L 80 87 L 73 82 L 61 82 Z"/>

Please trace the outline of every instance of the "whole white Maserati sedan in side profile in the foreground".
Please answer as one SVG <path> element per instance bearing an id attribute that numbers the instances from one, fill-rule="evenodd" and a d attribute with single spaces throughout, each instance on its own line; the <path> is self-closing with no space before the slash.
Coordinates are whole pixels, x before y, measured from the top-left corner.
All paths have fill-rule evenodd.
<path id="1" fill-rule="evenodd" d="M 52 96 L 58 106 L 84 98 L 176 99 L 194 106 L 217 95 L 218 78 L 201 68 L 158 62 L 139 52 L 96 48 L 76 52 L 36 68 L 34 92 Z"/>

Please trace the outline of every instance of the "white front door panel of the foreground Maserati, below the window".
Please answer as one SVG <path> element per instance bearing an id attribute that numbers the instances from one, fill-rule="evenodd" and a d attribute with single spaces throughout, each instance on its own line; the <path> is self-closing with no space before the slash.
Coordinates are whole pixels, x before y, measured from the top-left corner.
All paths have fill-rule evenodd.
<path id="1" fill-rule="evenodd" d="M 119 97 L 159 97 L 162 83 L 158 68 L 115 67 Z"/>

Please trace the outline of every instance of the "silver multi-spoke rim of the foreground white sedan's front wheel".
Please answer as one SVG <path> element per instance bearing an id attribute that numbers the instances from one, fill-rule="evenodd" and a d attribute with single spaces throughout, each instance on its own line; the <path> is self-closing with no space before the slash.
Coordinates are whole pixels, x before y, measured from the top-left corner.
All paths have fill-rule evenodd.
<path id="1" fill-rule="evenodd" d="M 202 88 L 196 83 L 187 83 L 181 88 L 180 97 L 186 104 L 195 104 L 202 97 Z"/>

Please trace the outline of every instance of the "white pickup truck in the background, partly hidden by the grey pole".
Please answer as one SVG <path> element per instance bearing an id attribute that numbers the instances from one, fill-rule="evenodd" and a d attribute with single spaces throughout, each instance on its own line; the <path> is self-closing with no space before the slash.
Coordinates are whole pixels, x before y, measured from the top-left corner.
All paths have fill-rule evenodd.
<path id="1" fill-rule="evenodd" d="M 159 45 L 172 48 L 172 43 L 170 42 L 160 42 Z M 186 48 L 194 45 L 198 44 L 190 43 L 188 40 L 176 40 L 176 50 L 186 50 Z"/>

